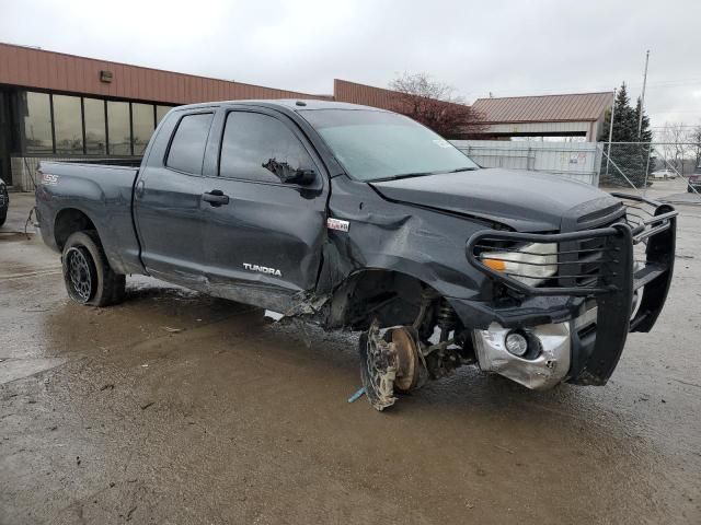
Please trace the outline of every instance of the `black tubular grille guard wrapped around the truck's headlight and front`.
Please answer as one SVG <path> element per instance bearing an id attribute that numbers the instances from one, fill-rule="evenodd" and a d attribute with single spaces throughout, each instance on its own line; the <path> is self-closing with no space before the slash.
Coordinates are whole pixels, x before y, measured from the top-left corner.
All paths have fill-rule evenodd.
<path id="1" fill-rule="evenodd" d="M 643 197 L 613 194 L 623 199 L 629 217 L 595 230 L 561 234 L 526 234 L 499 231 L 478 232 L 468 241 L 468 260 L 478 270 L 525 295 L 593 296 L 597 304 L 595 331 L 572 334 L 572 363 L 568 382 L 578 385 L 605 385 L 621 357 L 629 331 L 650 331 L 667 299 L 675 261 L 677 212 Z M 635 218 L 630 211 L 652 209 Z M 578 254 L 568 254 L 587 240 L 604 240 L 602 259 L 597 279 L 589 285 L 530 287 L 481 262 L 479 246 L 490 240 L 528 243 L 558 243 L 561 268 L 577 268 Z M 634 246 L 644 245 L 645 258 L 634 267 Z M 491 249 L 495 249 L 492 247 Z M 496 248 L 499 249 L 499 248 Z M 574 266 L 567 266 L 572 264 Z M 588 261 L 590 264 L 590 261 Z M 635 270 L 633 269 L 635 268 Z M 551 281 L 552 282 L 552 281 Z M 560 282 L 560 281 L 556 281 Z M 576 279 L 575 279 L 576 282 Z M 644 290 L 635 293 L 644 287 Z M 642 299 L 640 299 L 642 292 Z M 633 296 L 640 304 L 631 318 Z"/>

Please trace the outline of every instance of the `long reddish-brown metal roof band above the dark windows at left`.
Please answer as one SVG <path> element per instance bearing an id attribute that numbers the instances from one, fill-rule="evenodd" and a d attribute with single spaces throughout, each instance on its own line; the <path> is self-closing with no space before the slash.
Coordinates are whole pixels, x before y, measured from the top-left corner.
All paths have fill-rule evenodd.
<path id="1" fill-rule="evenodd" d="M 111 71 L 112 82 L 100 81 Z M 329 98 L 0 43 L 0 84 L 172 104 L 243 98 Z"/>

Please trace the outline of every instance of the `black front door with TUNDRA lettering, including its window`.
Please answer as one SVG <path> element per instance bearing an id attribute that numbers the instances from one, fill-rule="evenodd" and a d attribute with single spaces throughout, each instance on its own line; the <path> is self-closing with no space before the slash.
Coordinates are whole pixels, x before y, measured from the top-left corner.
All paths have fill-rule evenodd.
<path id="1" fill-rule="evenodd" d="M 325 238 L 329 182 L 292 120 L 267 109 L 222 108 L 220 141 L 207 152 L 204 206 L 207 273 L 222 295 L 283 310 L 285 296 L 313 290 Z M 312 184 L 283 183 L 271 160 L 313 170 Z M 216 287 L 215 287 L 216 288 Z"/>

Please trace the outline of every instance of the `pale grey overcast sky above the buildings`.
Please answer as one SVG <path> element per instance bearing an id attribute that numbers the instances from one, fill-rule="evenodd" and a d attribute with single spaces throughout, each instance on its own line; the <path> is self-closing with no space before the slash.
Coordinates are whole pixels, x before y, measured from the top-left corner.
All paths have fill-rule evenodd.
<path id="1" fill-rule="evenodd" d="M 701 124 L 701 0 L 0 0 L 0 42 L 330 94 L 427 72 L 468 102 L 642 89 Z"/>

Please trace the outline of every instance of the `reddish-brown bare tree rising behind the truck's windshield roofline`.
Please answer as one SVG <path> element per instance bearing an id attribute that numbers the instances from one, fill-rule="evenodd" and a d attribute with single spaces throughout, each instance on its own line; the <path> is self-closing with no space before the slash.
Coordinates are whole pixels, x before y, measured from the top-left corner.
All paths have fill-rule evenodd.
<path id="1" fill-rule="evenodd" d="M 404 73 L 390 82 L 398 93 L 397 113 L 406 115 L 447 138 L 469 138 L 484 129 L 484 117 L 472 109 L 455 89 L 426 73 Z"/>

